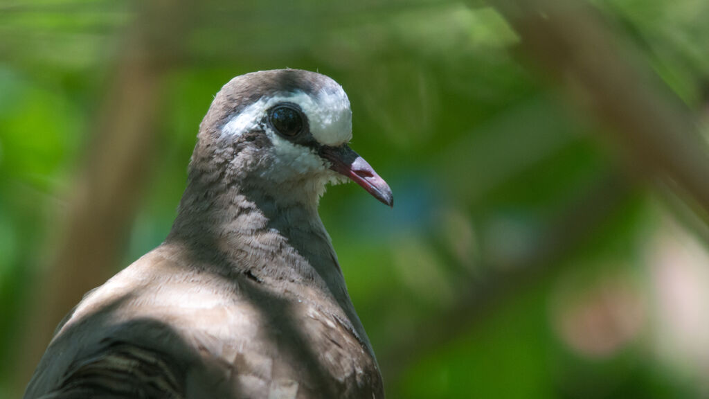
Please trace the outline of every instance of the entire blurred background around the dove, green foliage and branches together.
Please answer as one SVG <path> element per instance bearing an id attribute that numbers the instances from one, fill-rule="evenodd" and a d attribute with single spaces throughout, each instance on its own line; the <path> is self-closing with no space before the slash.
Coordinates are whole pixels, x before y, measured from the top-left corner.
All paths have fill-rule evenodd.
<path id="1" fill-rule="evenodd" d="M 0 397 L 159 245 L 235 75 L 342 84 L 389 398 L 709 398 L 709 2 L 0 0 Z"/>

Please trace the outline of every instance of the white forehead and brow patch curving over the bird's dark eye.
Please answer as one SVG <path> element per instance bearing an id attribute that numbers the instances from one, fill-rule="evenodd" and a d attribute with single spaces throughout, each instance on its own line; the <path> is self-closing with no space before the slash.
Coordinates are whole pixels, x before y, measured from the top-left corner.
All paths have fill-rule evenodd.
<path id="1" fill-rule="evenodd" d="M 225 124 L 225 134 L 240 134 L 257 127 L 267 111 L 281 102 L 297 104 L 308 118 L 311 134 L 325 146 L 342 146 L 352 139 L 350 100 L 343 90 L 320 91 L 311 96 L 302 91 L 276 95 L 247 106 Z"/>

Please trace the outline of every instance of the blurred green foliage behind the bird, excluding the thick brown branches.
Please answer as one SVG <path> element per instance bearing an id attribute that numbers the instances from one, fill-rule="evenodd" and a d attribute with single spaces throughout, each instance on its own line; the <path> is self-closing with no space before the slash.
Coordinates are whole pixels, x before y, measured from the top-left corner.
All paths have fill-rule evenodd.
<path id="1" fill-rule="evenodd" d="M 709 3 L 591 3 L 700 113 Z M 0 2 L 0 397 L 22 385 L 17 343 L 38 317 L 28 300 L 43 290 L 74 176 L 91 168 L 99 104 L 145 4 Z M 318 70 L 345 87 L 352 147 L 396 198 L 386 209 L 344 185 L 320 206 L 390 398 L 709 392 L 706 303 L 681 307 L 663 285 L 676 266 L 709 288 L 706 273 L 682 266 L 709 266 L 703 245 L 686 247 L 700 238 L 666 193 L 624 172 L 623 151 L 597 140 L 602 127 L 520 62 L 520 38 L 495 9 L 207 1 L 186 19 L 184 35 L 164 33 L 184 54 L 161 77 L 159 145 L 124 266 L 169 231 L 221 85 L 252 70 Z M 698 320 L 663 327 L 677 312 Z"/>

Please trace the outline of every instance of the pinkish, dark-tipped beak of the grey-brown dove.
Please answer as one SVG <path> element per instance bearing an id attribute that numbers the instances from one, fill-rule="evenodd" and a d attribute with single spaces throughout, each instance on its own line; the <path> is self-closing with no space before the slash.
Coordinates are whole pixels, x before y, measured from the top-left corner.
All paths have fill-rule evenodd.
<path id="1" fill-rule="evenodd" d="M 352 181 L 362 186 L 377 200 L 390 207 L 394 206 L 394 197 L 391 195 L 389 185 L 352 148 L 346 145 L 340 147 L 323 146 L 320 148 L 320 156 L 330 161 L 330 169 L 340 175 L 350 177 Z"/>

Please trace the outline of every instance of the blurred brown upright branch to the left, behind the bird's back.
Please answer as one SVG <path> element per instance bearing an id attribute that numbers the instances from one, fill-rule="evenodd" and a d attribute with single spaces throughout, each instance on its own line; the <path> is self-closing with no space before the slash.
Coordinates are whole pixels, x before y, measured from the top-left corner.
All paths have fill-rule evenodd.
<path id="1" fill-rule="evenodd" d="M 155 155 L 161 78 L 179 58 L 189 15 L 186 4 L 143 3 L 125 31 L 84 167 L 74 183 L 58 251 L 38 278 L 35 302 L 28 304 L 28 334 L 18 354 L 20 392 L 62 317 L 121 266 Z"/>

